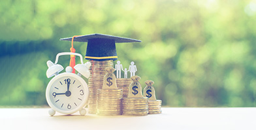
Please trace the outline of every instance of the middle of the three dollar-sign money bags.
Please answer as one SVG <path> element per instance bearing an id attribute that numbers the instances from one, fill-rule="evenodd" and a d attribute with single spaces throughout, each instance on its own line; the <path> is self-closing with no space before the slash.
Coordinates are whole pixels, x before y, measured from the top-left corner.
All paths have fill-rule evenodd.
<path id="1" fill-rule="evenodd" d="M 129 94 L 127 98 L 143 98 L 142 88 L 140 83 L 138 82 L 140 80 L 140 77 L 135 75 L 131 77 L 131 80 L 133 80 L 133 82 L 129 86 Z"/>

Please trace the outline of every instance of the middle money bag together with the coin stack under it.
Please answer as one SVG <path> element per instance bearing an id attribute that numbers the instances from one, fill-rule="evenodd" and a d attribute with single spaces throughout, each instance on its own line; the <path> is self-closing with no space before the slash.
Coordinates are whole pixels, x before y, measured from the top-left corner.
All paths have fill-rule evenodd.
<path id="1" fill-rule="evenodd" d="M 129 85 L 127 98 L 122 101 L 122 114 L 127 116 L 146 116 L 148 114 L 148 98 L 142 96 L 140 77 L 131 77 L 133 82 Z"/>

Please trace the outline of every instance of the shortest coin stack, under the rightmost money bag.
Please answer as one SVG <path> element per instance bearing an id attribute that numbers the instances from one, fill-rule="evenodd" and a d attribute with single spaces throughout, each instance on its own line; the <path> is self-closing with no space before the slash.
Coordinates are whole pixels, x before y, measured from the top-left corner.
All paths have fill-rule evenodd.
<path id="1" fill-rule="evenodd" d="M 148 114 L 160 114 L 162 100 L 148 101 Z"/>

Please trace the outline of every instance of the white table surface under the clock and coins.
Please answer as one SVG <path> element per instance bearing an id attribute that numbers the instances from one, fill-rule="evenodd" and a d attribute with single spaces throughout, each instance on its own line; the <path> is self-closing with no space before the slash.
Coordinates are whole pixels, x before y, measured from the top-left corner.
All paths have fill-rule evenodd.
<path id="1" fill-rule="evenodd" d="M 162 108 L 148 116 L 71 116 L 49 109 L 0 109 L 0 129 L 256 129 L 256 108 Z"/>

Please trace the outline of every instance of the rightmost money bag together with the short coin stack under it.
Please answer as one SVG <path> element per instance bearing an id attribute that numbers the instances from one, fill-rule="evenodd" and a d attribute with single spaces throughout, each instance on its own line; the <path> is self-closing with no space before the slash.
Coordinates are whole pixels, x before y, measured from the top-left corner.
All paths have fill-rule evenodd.
<path id="1" fill-rule="evenodd" d="M 153 81 L 146 81 L 146 87 L 144 88 L 143 96 L 148 98 L 148 114 L 159 114 L 162 112 L 161 103 L 162 100 L 155 98 L 155 88 L 153 88 Z"/>

